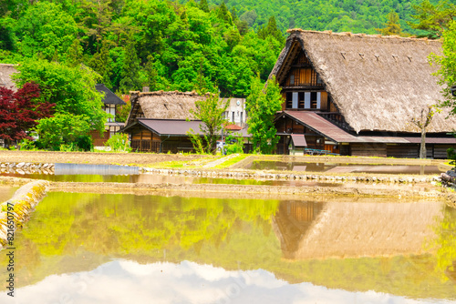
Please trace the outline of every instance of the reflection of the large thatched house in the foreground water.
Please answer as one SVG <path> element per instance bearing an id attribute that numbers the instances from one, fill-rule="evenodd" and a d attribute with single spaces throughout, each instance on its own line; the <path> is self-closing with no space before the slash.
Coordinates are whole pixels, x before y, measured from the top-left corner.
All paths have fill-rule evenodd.
<path id="1" fill-rule="evenodd" d="M 420 254 L 441 218 L 436 202 L 282 202 L 273 225 L 285 258 Z"/>

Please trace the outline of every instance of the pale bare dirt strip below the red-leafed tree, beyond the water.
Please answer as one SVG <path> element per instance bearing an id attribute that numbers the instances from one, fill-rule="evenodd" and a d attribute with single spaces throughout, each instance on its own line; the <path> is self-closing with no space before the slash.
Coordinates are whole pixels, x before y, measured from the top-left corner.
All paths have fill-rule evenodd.
<path id="1" fill-rule="evenodd" d="M 201 155 L 152 154 L 152 153 L 96 153 L 96 152 L 47 152 L 0 151 L 0 162 L 73 163 L 98 165 L 151 165 L 165 161 L 198 159 Z"/>

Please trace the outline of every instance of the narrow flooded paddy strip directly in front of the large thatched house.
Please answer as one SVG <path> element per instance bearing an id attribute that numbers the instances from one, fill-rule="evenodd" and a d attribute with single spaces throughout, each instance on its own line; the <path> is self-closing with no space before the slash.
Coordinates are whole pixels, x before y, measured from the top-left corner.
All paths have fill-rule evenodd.
<path id="1" fill-rule="evenodd" d="M 440 174 L 437 166 L 359 165 L 337 163 L 305 163 L 254 160 L 246 169 L 287 170 L 326 173 L 377 173 L 377 174 Z"/>

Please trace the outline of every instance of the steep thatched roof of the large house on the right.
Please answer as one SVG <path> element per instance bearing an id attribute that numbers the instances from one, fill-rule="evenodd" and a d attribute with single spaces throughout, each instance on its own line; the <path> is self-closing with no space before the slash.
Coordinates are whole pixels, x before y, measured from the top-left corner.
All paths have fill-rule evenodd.
<path id="1" fill-rule="evenodd" d="M 420 110 L 442 99 L 431 74 L 431 53 L 440 55 L 440 41 L 396 36 L 335 34 L 289 30 L 286 46 L 271 73 L 282 82 L 301 49 L 319 74 L 347 123 L 357 132 L 417 132 L 410 124 Z M 429 132 L 456 129 L 448 110 L 435 115 Z"/>

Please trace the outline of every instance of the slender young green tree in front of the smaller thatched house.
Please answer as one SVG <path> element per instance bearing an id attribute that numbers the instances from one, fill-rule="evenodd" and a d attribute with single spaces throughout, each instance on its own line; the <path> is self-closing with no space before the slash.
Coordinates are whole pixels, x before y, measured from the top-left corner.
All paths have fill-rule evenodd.
<path id="1" fill-rule="evenodd" d="M 202 121 L 202 137 L 192 129 L 189 135 L 197 151 L 202 152 L 203 149 L 206 153 L 215 153 L 217 138 L 221 135 L 223 123 L 226 121 L 224 112 L 229 103 L 229 99 L 223 100 L 218 94 L 209 94 L 205 99 L 195 102 L 195 109 L 190 110 L 190 113 L 195 119 Z"/>

